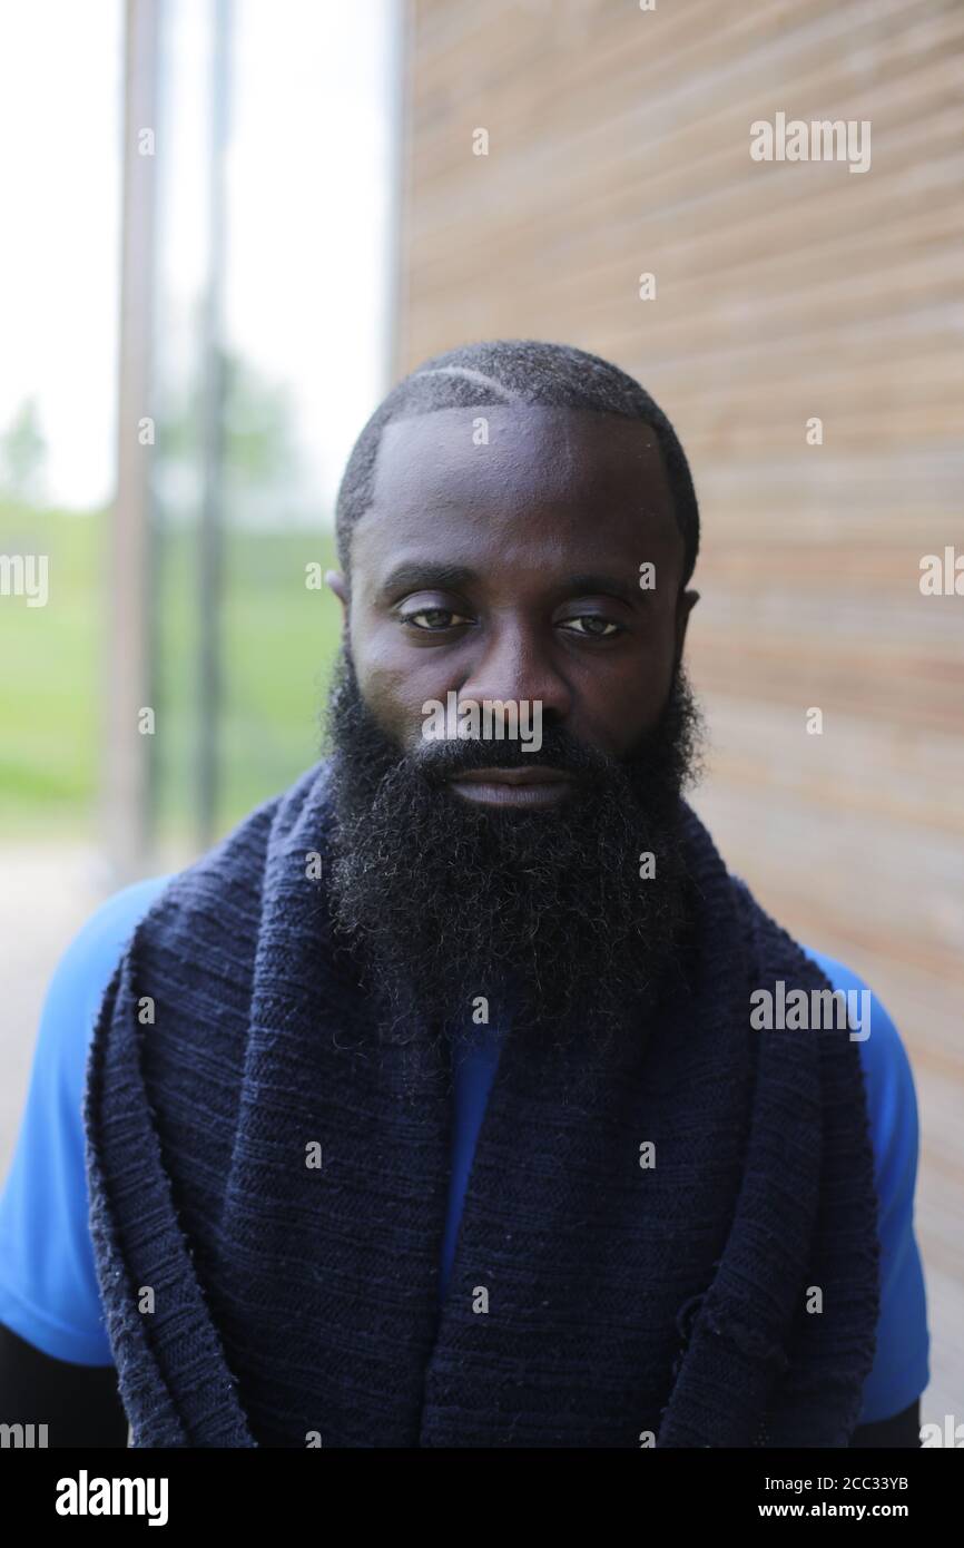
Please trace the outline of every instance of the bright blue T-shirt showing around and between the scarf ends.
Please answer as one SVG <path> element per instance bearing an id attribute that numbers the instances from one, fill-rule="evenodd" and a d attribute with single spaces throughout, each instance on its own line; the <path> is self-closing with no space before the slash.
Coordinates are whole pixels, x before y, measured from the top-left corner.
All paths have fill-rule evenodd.
<path id="1" fill-rule="evenodd" d="M 110 1365 L 88 1229 L 82 1099 L 87 1051 L 104 989 L 138 920 L 169 878 L 110 898 L 60 958 L 34 1053 L 17 1147 L 0 1197 L 0 1322 L 56 1359 Z M 809 952 L 809 949 L 808 949 Z M 834 989 L 863 991 L 848 968 L 809 952 Z M 859 1005 L 860 1002 L 853 1002 Z M 860 1423 L 891 1418 L 930 1381 L 927 1305 L 913 1231 L 918 1104 L 904 1043 L 876 997 L 870 1036 L 857 1040 L 867 1074 L 874 1175 L 880 1201 L 880 1320 Z M 478 1028 L 455 1060 L 449 1215 L 439 1265 L 446 1294 L 478 1130 L 495 1076 L 500 1033 Z"/>

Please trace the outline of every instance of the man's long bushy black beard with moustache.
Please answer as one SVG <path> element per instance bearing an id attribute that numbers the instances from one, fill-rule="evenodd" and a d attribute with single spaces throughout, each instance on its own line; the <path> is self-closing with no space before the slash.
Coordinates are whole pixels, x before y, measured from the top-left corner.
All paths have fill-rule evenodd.
<path id="1" fill-rule="evenodd" d="M 625 759 L 543 717 L 542 749 L 426 741 L 402 752 L 336 669 L 333 912 L 390 1043 L 458 1040 L 506 1015 L 526 1036 L 608 1046 L 651 1000 L 687 918 L 682 789 L 702 717 L 682 667 L 659 723 Z M 552 763 L 579 776 L 552 808 L 486 808 L 446 780 Z M 655 876 L 641 876 L 641 856 Z"/>

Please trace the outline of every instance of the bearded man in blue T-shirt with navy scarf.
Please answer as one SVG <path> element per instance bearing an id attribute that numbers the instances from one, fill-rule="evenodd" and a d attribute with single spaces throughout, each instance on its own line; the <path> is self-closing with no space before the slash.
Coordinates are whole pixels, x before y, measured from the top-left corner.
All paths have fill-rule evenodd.
<path id="1" fill-rule="evenodd" d="M 37 1379 L 60 1444 L 90 1401 L 135 1446 L 918 1444 L 913 1081 L 682 799 L 698 534 L 597 356 L 477 344 L 388 395 L 337 500 L 333 755 L 51 988 L 5 1418 Z"/>

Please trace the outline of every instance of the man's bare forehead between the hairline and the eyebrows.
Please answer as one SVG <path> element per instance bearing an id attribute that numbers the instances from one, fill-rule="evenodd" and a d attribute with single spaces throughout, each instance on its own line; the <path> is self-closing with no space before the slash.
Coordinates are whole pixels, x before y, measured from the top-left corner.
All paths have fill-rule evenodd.
<path id="1" fill-rule="evenodd" d="M 373 485 L 373 505 L 382 511 L 426 498 L 449 506 L 568 503 L 590 491 L 651 509 L 672 506 L 651 426 L 542 404 L 475 404 L 391 420 Z"/>

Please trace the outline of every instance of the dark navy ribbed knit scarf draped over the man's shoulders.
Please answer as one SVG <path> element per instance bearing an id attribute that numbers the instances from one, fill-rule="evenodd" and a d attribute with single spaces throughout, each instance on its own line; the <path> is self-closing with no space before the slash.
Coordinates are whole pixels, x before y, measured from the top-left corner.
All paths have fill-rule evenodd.
<path id="1" fill-rule="evenodd" d="M 846 1446 L 879 1311 L 859 1051 L 750 1028 L 752 989 L 829 986 L 692 808 L 689 949 L 639 1040 L 583 1085 L 588 1048 L 506 1039 L 441 1311 L 450 1088 L 412 1102 L 376 1040 L 331 820 L 319 765 L 173 879 L 104 998 L 90 1220 L 133 1444 Z"/>

